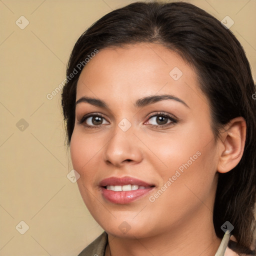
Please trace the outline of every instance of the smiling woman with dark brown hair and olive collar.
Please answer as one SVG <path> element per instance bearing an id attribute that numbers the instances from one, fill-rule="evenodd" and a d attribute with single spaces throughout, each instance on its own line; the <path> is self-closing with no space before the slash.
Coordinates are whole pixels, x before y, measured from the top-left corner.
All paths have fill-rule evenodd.
<path id="1" fill-rule="evenodd" d="M 66 74 L 72 165 L 105 230 L 79 256 L 255 253 L 255 87 L 220 21 L 129 4 L 79 37 Z"/>

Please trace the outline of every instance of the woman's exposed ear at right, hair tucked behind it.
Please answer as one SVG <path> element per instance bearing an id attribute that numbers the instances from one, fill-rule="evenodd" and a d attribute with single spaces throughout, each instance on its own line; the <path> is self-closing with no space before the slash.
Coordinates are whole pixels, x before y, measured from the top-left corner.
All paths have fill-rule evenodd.
<path id="1" fill-rule="evenodd" d="M 243 117 L 233 118 L 221 132 L 217 171 L 225 173 L 240 161 L 246 138 L 246 122 Z"/>

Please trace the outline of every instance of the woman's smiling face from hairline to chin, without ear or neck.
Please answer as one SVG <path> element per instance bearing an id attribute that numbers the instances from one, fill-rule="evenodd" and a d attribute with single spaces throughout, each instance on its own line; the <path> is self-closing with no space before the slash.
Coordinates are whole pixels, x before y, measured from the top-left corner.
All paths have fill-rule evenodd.
<path id="1" fill-rule="evenodd" d="M 209 219 L 218 152 L 193 67 L 160 44 L 104 48 L 76 101 L 71 160 L 104 230 L 146 237 Z"/>

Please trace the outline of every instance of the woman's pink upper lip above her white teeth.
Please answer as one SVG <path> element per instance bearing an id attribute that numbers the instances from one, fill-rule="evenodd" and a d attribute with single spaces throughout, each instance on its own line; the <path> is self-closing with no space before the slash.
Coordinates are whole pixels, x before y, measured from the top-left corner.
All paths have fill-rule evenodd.
<path id="1" fill-rule="evenodd" d="M 154 184 L 149 184 L 143 180 L 124 176 L 124 177 L 109 177 L 104 178 L 99 182 L 99 186 L 107 186 L 107 185 L 128 185 L 128 184 L 135 184 L 138 186 L 154 186 Z"/>

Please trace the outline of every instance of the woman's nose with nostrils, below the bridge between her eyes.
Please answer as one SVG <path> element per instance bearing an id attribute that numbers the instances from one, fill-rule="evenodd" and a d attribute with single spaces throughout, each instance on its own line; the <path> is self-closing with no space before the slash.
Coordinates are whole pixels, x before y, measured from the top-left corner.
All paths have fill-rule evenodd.
<path id="1" fill-rule="evenodd" d="M 116 126 L 109 142 L 104 147 L 104 161 L 114 166 L 134 164 L 142 161 L 142 151 L 139 140 L 130 127 L 127 131 Z"/>

